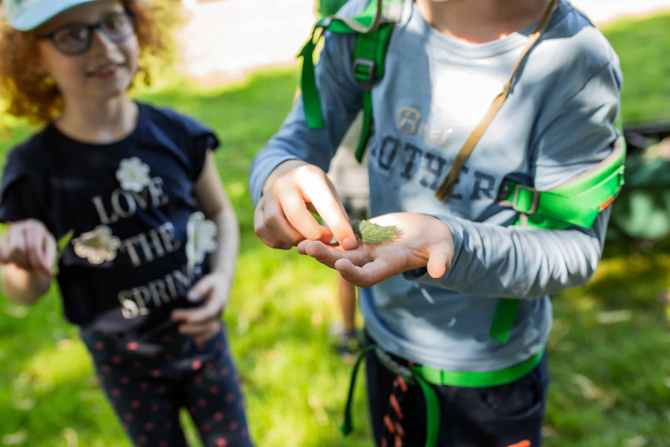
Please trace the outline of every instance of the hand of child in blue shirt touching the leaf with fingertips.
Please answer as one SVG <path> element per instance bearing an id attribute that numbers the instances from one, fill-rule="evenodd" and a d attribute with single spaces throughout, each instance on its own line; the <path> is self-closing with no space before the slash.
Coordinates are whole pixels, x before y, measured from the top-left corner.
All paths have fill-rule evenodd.
<path id="1" fill-rule="evenodd" d="M 330 243 L 333 237 L 344 249 L 356 248 L 342 200 L 326 173 L 304 163 L 295 168 L 292 162 L 279 165 L 269 178 L 270 186 L 254 212 L 256 235 L 265 245 L 285 250 L 305 239 Z M 318 213 L 328 228 L 319 225 L 310 211 Z"/>

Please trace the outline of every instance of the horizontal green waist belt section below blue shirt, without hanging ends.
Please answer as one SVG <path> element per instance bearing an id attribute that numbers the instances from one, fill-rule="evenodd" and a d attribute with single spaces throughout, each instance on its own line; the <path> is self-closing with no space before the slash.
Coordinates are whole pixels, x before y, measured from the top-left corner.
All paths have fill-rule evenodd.
<path id="1" fill-rule="evenodd" d="M 509 368 L 498 369 L 487 373 L 474 373 L 469 371 L 442 371 L 426 366 L 409 367 L 415 373 L 419 373 L 425 381 L 433 385 L 450 385 L 456 387 L 494 387 L 513 382 L 527 375 L 540 363 L 544 349 L 539 350 L 533 357 L 513 365 Z"/>

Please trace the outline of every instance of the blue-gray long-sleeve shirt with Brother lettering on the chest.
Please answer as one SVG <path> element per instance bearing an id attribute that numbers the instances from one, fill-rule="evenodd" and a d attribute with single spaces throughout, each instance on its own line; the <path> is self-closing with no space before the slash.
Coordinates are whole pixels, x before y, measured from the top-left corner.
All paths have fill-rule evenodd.
<path id="1" fill-rule="evenodd" d="M 366 3 L 350 0 L 340 15 L 360 13 Z M 431 27 L 413 1 L 403 3 L 385 76 L 373 88 L 371 215 L 440 216 L 454 233 L 455 256 L 440 279 L 398 275 L 361 290 L 366 330 L 395 355 L 449 371 L 493 371 L 525 361 L 549 336 L 549 296 L 585 283 L 598 266 L 609 207 L 590 229 L 546 230 L 513 226 L 515 210 L 496 204 L 503 180 L 555 188 L 602 161 L 619 136 L 613 125 L 620 113 L 618 58 L 565 0 L 521 65 L 448 204 L 433 196 L 536 25 L 468 44 Z M 255 204 L 267 176 L 287 159 L 328 171 L 362 105 L 350 68 L 353 46 L 352 35 L 326 34 L 316 68 L 326 127 L 310 129 L 296 101 L 251 165 Z M 489 336 L 498 298 L 521 300 L 505 344 Z"/>

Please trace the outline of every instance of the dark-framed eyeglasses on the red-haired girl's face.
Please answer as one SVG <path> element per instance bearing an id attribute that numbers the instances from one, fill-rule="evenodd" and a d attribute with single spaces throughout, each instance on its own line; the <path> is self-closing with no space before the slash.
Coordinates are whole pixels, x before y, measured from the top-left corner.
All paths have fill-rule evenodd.
<path id="1" fill-rule="evenodd" d="M 137 23 L 131 11 L 110 13 L 93 24 L 68 23 L 49 34 L 41 36 L 51 40 L 56 50 L 66 56 L 78 56 L 87 52 L 96 29 L 99 29 L 111 42 L 120 44 L 135 34 Z"/>

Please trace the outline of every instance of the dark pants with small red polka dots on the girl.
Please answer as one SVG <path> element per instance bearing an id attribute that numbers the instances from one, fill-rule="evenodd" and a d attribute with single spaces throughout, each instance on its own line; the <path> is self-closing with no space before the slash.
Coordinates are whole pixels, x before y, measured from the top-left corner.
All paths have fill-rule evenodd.
<path id="1" fill-rule="evenodd" d="M 150 338 L 81 334 L 100 384 L 135 446 L 186 447 L 188 409 L 204 447 L 251 447 L 239 375 L 224 328 L 196 344 L 176 328 Z"/>

